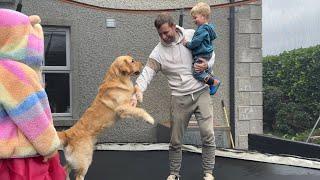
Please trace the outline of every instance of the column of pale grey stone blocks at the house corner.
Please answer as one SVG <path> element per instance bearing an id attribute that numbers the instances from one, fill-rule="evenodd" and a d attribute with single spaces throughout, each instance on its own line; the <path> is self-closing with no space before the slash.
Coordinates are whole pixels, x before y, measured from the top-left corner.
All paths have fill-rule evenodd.
<path id="1" fill-rule="evenodd" d="M 235 13 L 235 139 L 248 148 L 248 134 L 263 133 L 261 1 Z"/>

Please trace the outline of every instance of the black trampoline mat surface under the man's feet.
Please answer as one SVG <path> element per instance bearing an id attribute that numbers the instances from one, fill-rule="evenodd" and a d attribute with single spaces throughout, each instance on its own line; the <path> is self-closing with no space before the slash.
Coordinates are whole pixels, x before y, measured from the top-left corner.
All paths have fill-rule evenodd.
<path id="1" fill-rule="evenodd" d="M 85 179 L 166 180 L 168 162 L 168 151 L 95 151 Z M 222 157 L 216 157 L 214 174 L 216 180 L 320 180 L 317 169 Z M 181 176 L 202 180 L 201 154 L 183 152 Z"/>

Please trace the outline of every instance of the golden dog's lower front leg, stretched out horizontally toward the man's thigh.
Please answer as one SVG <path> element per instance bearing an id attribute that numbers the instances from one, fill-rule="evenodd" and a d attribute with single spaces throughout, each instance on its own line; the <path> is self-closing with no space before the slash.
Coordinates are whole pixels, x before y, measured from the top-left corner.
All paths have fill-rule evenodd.
<path id="1" fill-rule="evenodd" d="M 121 118 L 142 118 L 150 124 L 154 124 L 153 117 L 144 109 L 132 107 L 130 105 L 121 105 L 115 109 L 118 116 Z"/>

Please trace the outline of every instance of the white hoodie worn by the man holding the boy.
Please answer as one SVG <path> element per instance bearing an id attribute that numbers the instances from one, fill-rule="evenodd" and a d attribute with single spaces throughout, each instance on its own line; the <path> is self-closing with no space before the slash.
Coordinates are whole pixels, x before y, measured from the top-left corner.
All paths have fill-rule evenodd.
<path id="1" fill-rule="evenodd" d="M 184 96 L 192 94 L 206 87 L 206 84 L 196 80 L 192 75 L 193 59 L 191 51 L 182 44 L 183 38 L 187 41 L 192 39 L 193 29 L 176 28 L 179 38 L 171 44 L 161 41 L 152 50 L 147 65 L 144 67 L 136 83 L 144 92 L 148 84 L 158 71 L 161 71 L 168 79 L 171 94 Z M 212 68 L 215 54 L 208 62 Z M 152 62 L 150 62 L 152 61 Z"/>

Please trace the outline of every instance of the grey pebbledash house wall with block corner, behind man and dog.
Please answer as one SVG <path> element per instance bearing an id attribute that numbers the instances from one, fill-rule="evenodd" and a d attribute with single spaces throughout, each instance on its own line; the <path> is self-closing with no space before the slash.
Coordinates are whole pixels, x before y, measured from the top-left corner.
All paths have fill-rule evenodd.
<path id="1" fill-rule="evenodd" d="M 70 29 L 71 116 L 54 116 L 56 127 L 69 127 L 90 105 L 102 78 L 119 55 L 130 53 L 146 62 L 159 41 L 153 22 L 159 11 L 171 10 L 176 19 L 184 9 L 184 28 L 195 28 L 189 15 L 196 0 L 125 1 L 125 0 L 28 0 L 22 12 L 37 14 L 43 25 Z M 204 1 L 210 5 L 226 0 Z M 0 2 L 3 8 L 15 9 L 18 1 Z M 130 11 L 128 11 L 128 9 Z M 135 11 L 144 10 L 144 11 Z M 232 14 L 234 21 L 232 20 Z M 231 15 L 231 16 L 230 16 Z M 262 114 L 262 9 L 261 1 L 244 6 L 214 8 L 212 22 L 218 39 L 214 73 L 222 80 L 218 96 L 212 97 L 214 126 L 218 146 L 225 146 L 226 121 L 221 107 L 224 100 L 231 118 L 236 148 L 248 147 L 249 133 L 263 133 Z M 106 27 L 106 19 L 115 20 L 115 28 Z M 233 21 L 233 27 L 230 26 Z M 232 33 L 233 32 L 233 33 Z M 0 33 L 1 34 L 1 33 Z M 230 39 L 233 38 L 233 39 Z M 232 43 L 232 44 L 230 44 Z M 234 58 L 233 58 L 234 57 Z M 231 62 L 231 64 L 230 64 Z M 231 84 L 230 84 L 231 83 Z M 141 105 L 157 122 L 169 119 L 170 90 L 160 73 L 153 80 Z M 94 120 L 92 121 L 94 123 Z M 100 137 L 101 142 L 157 142 L 157 125 L 140 120 L 118 121 Z M 195 123 L 191 122 L 186 144 L 201 144 Z"/>

